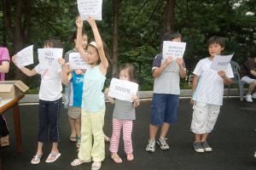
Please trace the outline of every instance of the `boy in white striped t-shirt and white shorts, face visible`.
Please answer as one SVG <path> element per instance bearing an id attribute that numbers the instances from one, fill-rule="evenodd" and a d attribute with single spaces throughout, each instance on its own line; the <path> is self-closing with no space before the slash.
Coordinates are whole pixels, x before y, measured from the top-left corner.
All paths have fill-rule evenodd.
<path id="1" fill-rule="evenodd" d="M 208 134 L 212 132 L 223 102 L 224 84 L 232 83 L 233 71 L 228 65 L 226 71 L 210 69 L 212 59 L 224 50 L 224 37 L 214 36 L 208 42 L 210 57 L 201 59 L 195 66 L 192 84 L 193 118 L 191 131 L 195 133 L 194 149 L 196 152 L 212 151 L 207 144 Z"/>

